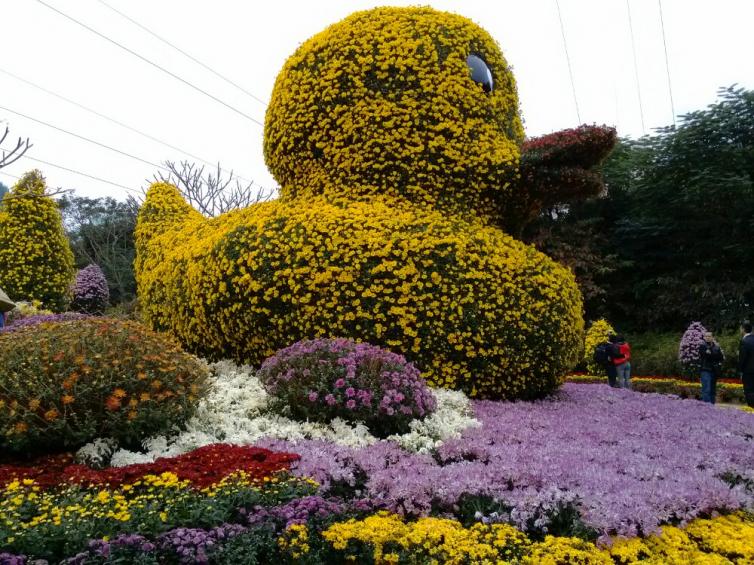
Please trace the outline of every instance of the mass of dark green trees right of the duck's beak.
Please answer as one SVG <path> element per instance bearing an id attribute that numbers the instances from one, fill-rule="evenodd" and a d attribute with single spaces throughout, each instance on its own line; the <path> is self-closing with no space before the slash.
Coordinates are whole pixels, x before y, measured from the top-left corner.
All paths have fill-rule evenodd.
<path id="1" fill-rule="evenodd" d="M 526 237 L 572 268 L 587 318 L 735 328 L 754 306 L 754 91 L 727 88 L 677 127 L 621 140 L 600 198 L 551 209 Z"/>

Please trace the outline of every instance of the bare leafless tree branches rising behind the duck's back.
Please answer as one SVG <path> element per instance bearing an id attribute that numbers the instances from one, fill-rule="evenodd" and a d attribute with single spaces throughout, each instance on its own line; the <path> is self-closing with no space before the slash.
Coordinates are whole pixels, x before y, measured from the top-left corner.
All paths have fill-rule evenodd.
<path id="1" fill-rule="evenodd" d="M 225 171 L 217 164 L 217 170 L 205 173 L 204 166 L 189 161 L 165 161 L 168 173 L 158 172 L 155 182 L 167 182 L 178 187 L 186 201 L 202 214 L 219 216 L 230 210 L 246 208 L 252 204 L 268 200 L 272 190 L 265 190 L 253 181 L 242 182 L 234 177 L 233 171 Z"/>

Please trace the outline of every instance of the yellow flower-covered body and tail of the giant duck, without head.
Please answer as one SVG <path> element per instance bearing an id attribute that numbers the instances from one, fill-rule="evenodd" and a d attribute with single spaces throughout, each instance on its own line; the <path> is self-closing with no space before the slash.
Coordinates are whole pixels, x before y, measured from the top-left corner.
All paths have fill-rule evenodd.
<path id="1" fill-rule="evenodd" d="M 186 206 L 166 185 L 150 198 Z M 322 198 L 175 217 L 140 251 L 140 296 L 153 327 L 203 355 L 257 365 L 348 336 L 406 354 L 436 386 L 517 398 L 558 386 L 574 361 L 562 352 L 579 348 L 570 271 L 479 222 Z"/>

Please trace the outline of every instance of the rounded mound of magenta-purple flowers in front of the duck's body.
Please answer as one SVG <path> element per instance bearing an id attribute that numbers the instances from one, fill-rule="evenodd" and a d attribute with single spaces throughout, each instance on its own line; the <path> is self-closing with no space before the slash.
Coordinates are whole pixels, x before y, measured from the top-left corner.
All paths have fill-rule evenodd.
<path id="1" fill-rule="evenodd" d="M 259 377 L 274 404 L 294 418 L 363 422 L 380 437 L 407 430 L 436 407 L 403 356 L 348 339 L 299 341 L 267 359 Z"/>

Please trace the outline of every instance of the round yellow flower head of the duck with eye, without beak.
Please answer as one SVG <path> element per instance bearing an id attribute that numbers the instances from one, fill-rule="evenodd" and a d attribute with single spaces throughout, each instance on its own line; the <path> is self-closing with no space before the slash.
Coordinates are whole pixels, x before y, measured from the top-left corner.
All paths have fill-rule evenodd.
<path id="1" fill-rule="evenodd" d="M 264 151 L 286 199 L 386 195 L 492 214 L 522 141 L 513 75 L 487 32 L 431 8 L 377 8 L 288 59 Z"/>

